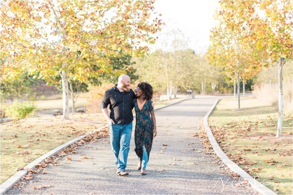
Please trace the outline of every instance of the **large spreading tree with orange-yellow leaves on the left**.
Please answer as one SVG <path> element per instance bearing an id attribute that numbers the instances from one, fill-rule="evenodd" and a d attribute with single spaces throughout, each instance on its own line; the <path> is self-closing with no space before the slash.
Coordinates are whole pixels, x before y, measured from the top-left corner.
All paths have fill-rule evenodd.
<path id="1" fill-rule="evenodd" d="M 68 79 L 111 72 L 110 58 L 142 55 L 161 20 L 154 1 L 1 1 L 1 81 L 23 70 L 48 83 L 60 75 L 63 117 L 69 119 Z M 80 51 L 76 55 L 76 51 Z M 84 60 L 84 58 L 86 60 Z M 91 65 L 100 69 L 94 71 Z M 74 69 L 74 71 L 71 71 Z M 74 73 L 72 73 L 74 72 Z M 53 79 L 52 79 L 53 78 Z"/>

